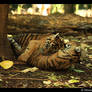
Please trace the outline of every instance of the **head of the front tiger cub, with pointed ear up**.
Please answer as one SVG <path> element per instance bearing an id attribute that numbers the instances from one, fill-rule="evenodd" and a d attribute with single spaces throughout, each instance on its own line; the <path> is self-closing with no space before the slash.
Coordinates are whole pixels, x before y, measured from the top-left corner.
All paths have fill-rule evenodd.
<path id="1" fill-rule="evenodd" d="M 46 38 L 42 47 L 43 54 L 53 54 L 64 47 L 64 40 L 59 33 Z"/>

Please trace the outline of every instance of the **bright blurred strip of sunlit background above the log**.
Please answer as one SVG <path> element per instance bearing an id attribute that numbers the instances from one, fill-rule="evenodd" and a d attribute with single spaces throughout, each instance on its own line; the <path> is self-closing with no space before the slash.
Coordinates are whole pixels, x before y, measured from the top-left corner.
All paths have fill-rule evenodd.
<path id="1" fill-rule="evenodd" d="M 10 4 L 9 13 L 43 16 L 74 13 L 82 17 L 92 17 L 92 4 Z"/>

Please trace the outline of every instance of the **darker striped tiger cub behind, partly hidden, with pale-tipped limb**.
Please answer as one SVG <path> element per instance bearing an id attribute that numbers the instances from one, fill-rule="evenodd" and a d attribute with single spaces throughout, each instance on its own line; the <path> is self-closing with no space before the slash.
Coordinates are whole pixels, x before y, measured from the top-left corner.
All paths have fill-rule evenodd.
<path id="1" fill-rule="evenodd" d="M 8 40 L 11 43 L 12 50 L 16 57 L 18 57 L 23 51 L 26 49 L 27 45 L 29 44 L 30 40 L 40 40 L 45 36 L 49 36 L 50 34 L 31 34 L 31 33 L 24 33 L 18 34 L 13 36 L 8 36 Z"/>

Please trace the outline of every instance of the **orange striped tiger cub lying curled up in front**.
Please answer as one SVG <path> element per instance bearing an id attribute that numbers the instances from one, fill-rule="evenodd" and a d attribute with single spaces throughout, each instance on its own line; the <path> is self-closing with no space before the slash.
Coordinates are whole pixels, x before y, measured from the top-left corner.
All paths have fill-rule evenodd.
<path id="1" fill-rule="evenodd" d="M 30 40 L 18 60 L 40 69 L 67 69 L 79 62 L 80 51 L 77 52 L 76 47 L 73 41 L 65 43 L 59 33 L 52 34 L 39 40 Z"/>

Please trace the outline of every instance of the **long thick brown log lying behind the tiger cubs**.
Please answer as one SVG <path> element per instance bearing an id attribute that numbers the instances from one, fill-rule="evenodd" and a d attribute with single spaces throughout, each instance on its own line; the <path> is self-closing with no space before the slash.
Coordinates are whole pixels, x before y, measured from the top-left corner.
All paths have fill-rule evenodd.
<path id="1" fill-rule="evenodd" d="M 75 14 L 9 15 L 6 33 L 66 33 L 92 29 L 92 18 L 84 18 Z"/>

